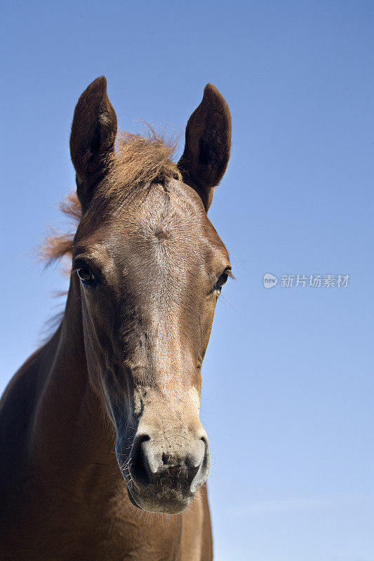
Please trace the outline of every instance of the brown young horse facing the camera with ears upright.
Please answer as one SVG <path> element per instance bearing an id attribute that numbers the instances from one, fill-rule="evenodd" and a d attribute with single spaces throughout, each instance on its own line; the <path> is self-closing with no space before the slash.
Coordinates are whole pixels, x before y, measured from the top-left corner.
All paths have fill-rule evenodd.
<path id="1" fill-rule="evenodd" d="M 79 225 L 47 248 L 72 254 L 65 313 L 1 400 L 2 561 L 212 559 L 200 371 L 231 267 L 206 211 L 229 109 L 208 84 L 178 164 L 116 129 L 101 77 L 72 123 Z"/>

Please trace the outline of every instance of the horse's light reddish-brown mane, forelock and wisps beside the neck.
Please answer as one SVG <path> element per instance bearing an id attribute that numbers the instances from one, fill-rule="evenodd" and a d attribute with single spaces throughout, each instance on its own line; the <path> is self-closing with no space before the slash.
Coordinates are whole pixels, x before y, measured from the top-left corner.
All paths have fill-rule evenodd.
<path id="1" fill-rule="evenodd" d="M 172 178 L 181 180 L 178 166 L 171 160 L 177 142 L 165 140 L 147 125 L 147 135 L 119 132 L 116 147 L 107 159 L 107 174 L 100 185 L 99 196 L 134 194 L 140 187 Z M 81 205 L 76 191 L 69 193 L 60 203 L 60 210 L 73 220 L 76 227 L 81 220 Z M 74 233 L 63 234 L 53 229 L 41 245 L 39 255 L 51 264 L 65 255 L 72 255 Z"/>

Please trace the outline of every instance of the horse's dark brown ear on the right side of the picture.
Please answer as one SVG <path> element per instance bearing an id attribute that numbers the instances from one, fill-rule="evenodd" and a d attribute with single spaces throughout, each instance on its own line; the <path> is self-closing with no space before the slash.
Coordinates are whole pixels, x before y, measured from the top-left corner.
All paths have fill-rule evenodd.
<path id="1" fill-rule="evenodd" d="M 189 117 L 185 151 L 178 162 L 183 181 L 197 191 L 206 210 L 226 171 L 230 148 L 229 107 L 218 89 L 208 83 L 201 104 Z"/>

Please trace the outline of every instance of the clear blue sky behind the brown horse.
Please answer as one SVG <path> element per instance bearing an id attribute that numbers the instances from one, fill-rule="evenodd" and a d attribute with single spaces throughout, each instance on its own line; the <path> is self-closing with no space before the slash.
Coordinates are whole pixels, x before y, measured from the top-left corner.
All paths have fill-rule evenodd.
<path id="1" fill-rule="evenodd" d="M 1 388 L 63 305 L 34 250 L 65 226 L 81 92 L 105 74 L 121 128 L 182 137 L 212 82 L 233 146 L 209 215 L 237 279 L 203 365 L 215 561 L 373 561 L 373 2 L 8 1 L 0 25 Z"/>

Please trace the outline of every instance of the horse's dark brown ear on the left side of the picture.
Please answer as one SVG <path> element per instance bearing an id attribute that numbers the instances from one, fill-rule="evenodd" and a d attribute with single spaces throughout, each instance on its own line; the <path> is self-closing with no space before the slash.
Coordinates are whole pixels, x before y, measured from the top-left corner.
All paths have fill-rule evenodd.
<path id="1" fill-rule="evenodd" d="M 79 97 L 70 135 L 76 192 L 83 210 L 105 175 L 107 158 L 114 150 L 116 132 L 117 118 L 107 96 L 107 80 L 105 76 L 100 76 Z"/>

